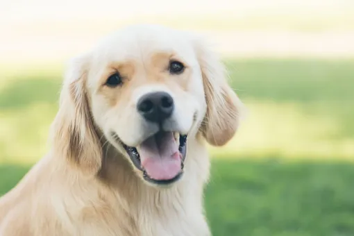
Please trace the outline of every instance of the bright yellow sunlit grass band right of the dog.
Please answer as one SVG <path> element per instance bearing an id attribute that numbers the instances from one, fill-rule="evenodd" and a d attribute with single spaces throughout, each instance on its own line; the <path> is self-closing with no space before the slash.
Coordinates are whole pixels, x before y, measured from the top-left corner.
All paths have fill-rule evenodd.
<path id="1" fill-rule="evenodd" d="M 354 137 L 341 137 L 339 119 L 304 112 L 316 104 L 249 101 L 247 106 L 249 115 L 235 138 L 223 148 L 211 148 L 213 155 L 354 160 Z"/>

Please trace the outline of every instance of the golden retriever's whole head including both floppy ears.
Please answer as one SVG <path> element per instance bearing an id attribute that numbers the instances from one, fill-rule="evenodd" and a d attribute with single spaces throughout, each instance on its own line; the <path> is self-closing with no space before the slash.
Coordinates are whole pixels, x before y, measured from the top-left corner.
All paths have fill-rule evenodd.
<path id="1" fill-rule="evenodd" d="M 187 140 L 201 134 L 214 146 L 226 144 L 239 104 L 221 61 L 199 37 L 130 26 L 71 62 L 54 145 L 96 174 L 106 140 L 147 182 L 173 183 L 183 174 Z"/>

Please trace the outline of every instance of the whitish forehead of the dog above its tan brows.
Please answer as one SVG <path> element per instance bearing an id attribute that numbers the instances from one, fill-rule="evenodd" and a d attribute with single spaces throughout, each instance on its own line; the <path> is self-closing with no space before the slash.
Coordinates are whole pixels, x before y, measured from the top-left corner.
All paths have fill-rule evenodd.
<path id="1" fill-rule="evenodd" d="M 144 60 L 161 52 L 177 54 L 185 60 L 194 56 L 187 33 L 163 26 L 123 28 L 99 42 L 95 51 L 99 61 Z"/>

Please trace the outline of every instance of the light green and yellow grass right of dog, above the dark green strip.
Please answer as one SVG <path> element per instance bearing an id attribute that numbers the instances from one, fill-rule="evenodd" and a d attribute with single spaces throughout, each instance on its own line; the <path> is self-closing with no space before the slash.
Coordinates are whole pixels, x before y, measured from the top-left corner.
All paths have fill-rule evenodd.
<path id="1" fill-rule="evenodd" d="M 237 60 L 248 115 L 214 155 L 354 160 L 354 60 Z"/>

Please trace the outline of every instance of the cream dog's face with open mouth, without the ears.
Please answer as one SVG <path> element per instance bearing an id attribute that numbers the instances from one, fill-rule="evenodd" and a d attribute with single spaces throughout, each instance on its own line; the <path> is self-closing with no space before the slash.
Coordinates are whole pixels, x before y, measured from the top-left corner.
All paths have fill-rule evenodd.
<path id="1" fill-rule="evenodd" d="M 176 31 L 128 28 L 93 53 L 87 88 L 96 124 L 145 180 L 177 180 L 187 135 L 206 110 L 192 44 Z"/>

